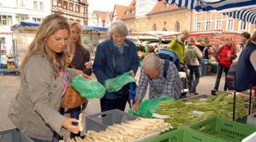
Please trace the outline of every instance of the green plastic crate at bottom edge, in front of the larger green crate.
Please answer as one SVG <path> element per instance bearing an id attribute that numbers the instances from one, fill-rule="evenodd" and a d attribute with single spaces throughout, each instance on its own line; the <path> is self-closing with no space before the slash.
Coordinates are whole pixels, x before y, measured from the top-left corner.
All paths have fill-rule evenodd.
<path id="1" fill-rule="evenodd" d="M 225 142 L 190 128 L 180 128 L 143 142 Z"/>

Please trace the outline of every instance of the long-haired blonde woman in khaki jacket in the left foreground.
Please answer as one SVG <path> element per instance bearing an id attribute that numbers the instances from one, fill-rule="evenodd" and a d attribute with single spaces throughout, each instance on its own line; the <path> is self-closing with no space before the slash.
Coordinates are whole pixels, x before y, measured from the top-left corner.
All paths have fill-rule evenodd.
<path id="1" fill-rule="evenodd" d="M 58 112 L 69 80 L 82 74 L 66 68 L 69 36 L 70 28 L 64 17 L 47 16 L 19 67 L 21 82 L 8 116 L 35 142 L 52 141 L 53 131 L 60 134 L 62 128 L 79 132 L 78 126 L 72 125 L 78 120 Z"/>

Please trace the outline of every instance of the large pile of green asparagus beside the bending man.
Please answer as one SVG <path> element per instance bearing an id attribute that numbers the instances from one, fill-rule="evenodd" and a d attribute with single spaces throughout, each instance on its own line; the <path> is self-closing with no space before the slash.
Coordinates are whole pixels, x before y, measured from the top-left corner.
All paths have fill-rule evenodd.
<path id="1" fill-rule="evenodd" d="M 243 98 L 236 98 L 236 118 L 246 116 Z M 178 101 L 162 101 L 157 114 L 170 115 L 165 122 L 171 123 L 174 127 L 179 128 L 183 125 L 190 125 L 198 121 L 206 120 L 214 115 L 232 119 L 233 118 L 233 96 L 226 92 L 220 92 L 217 96 L 211 96 L 207 99 L 194 98 Z"/>

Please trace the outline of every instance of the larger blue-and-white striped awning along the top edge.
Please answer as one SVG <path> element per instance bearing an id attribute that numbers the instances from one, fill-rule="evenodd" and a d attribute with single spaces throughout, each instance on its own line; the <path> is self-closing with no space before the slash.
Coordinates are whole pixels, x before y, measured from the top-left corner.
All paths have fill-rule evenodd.
<path id="1" fill-rule="evenodd" d="M 195 9 L 196 11 L 220 11 L 229 8 L 256 5 L 256 0 L 166 0 L 166 2 L 169 4 L 175 3 L 178 7 L 186 7 L 190 10 Z"/>

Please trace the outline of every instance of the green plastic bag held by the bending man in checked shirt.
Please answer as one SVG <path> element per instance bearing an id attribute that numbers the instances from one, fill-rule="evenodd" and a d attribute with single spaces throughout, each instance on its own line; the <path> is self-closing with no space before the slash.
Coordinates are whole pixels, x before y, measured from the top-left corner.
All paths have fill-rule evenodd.
<path id="1" fill-rule="evenodd" d="M 141 102 L 141 106 L 139 110 L 135 110 L 133 113 L 131 109 L 128 110 L 129 114 L 136 115 L 138 117 L 143 117 L 146 115 L 148 118 L 152 118 L 154 112 L 159 107 L 161 101 L 174 101 L 173 98 L 158 98 L 158 99 L 146 99 L 145 101 Z"/>

